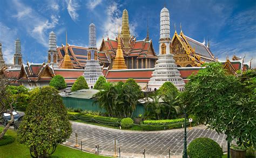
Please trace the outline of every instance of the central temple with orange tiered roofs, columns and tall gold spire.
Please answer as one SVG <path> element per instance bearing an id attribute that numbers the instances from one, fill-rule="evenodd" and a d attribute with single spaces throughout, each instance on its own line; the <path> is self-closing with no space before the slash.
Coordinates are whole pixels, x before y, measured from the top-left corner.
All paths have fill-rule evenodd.
<path id="1" fill-rule="evenodd" d="M 126 9 L 123 11 L 120 36 L 121 49 L 128 69 L 154 67 L 157 56 L 153 49 L 152 40 L 149 40 L 149 37 L 137 40 L 136 37 L 130 35 L 129 16 Z M 111 69 L 116 58 L 117 49 L 118 37 L 116 39 L 103 39 L 98 51 L 100 64 Z"/>

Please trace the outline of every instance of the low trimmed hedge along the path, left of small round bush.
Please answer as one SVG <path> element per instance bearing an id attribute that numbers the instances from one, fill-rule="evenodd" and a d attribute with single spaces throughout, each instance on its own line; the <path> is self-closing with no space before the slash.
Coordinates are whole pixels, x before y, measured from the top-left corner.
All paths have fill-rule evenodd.
<path id="1" fill-rule="evenodd" d="M 103 125 L 109 125 L 114 127 L 120 126 L 120 122 L 122 120 L 119 118 L 111 118 L 107 116 L 99 116 L 99 115 L 93 115 L 93 114 L 83 114 L 83 115 L 80 115 L 78 119 L 86 122 L 96 122 Z"/>

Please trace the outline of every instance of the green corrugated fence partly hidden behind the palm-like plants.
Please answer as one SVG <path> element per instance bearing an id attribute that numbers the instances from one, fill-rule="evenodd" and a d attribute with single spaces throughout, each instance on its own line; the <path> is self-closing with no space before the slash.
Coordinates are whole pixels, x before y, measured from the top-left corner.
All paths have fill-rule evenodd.
<path id="1" fill-rule="evenodd" d="M 105 108 L 101 108 L 98 103 L 95 103 L 94 99 L 82 99 L 72 97 L 62 97 L 63 104 L 67 108 L 79 108 L 82 110 L 88 110 L 92 112 L 106 112 Z M 137 117 L 139 114 L 144 115 L 145 108 L 142 104 L 137 104 L 136 109 L 133 112 L 133 117 Z"/>

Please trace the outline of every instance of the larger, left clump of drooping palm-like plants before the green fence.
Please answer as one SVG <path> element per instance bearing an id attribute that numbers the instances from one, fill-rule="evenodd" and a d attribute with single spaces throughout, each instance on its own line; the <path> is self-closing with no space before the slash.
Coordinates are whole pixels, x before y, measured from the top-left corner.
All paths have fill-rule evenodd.
<path id="1" fill-rule="evenodd" d="M 115 118 L 130 118 L 136 108 L 139 93 L 130 84 L 106 83 L 104 90 L 96 94 L 97 101 L 107 114 Z"/>

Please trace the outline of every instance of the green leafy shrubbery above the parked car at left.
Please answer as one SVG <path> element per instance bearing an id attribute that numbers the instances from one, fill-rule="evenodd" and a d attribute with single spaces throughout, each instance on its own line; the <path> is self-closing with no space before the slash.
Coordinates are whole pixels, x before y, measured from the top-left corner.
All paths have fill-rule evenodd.
<path id="1" fill-rule="evenodd" d="M 12 97 L 17 98 L 17 101 L 12 104 L 16 109 L 25 111 L 29 104 L 29 90 L 24 86 L 8 86 Z"/>

